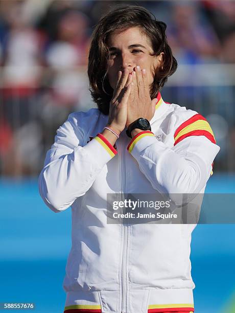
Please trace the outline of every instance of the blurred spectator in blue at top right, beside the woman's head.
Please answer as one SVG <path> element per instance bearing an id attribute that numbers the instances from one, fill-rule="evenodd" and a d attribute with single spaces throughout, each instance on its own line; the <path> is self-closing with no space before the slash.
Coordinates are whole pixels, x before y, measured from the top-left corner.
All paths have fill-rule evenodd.
<path id="1" fill-rule="evenodd" d="M 212 61 L 220 52 L 219 40 L 207 23 L 198 2 L 173 4 L 168 38 L 179 63 Z"/>

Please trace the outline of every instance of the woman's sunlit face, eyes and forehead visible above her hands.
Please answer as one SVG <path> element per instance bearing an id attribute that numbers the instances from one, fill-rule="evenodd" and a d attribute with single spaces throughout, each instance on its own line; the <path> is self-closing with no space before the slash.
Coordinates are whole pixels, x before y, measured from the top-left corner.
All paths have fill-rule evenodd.
<path id="1" fill-rule="evenodd" d="M 151 40 L 139 27 L 131 27 L 121 33 L 112 34 L 108 40 L 108 48 L 110 51 L 107 63 L 108 80 L 113 89 L 116 86 L 118 72 L 128 69 L 131 73 L 137 65 L 141 70 L 146 69 L 151 86 L 162 54 L 151 55 L 153 53 Z"/>

